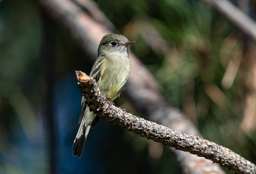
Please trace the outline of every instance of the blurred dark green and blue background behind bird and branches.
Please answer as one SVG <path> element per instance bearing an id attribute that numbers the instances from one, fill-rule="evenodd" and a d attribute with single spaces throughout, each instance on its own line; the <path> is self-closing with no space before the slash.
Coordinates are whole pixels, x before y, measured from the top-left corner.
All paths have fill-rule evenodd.
<path id="1" fill-rule="evenodd" d="M 201 1 L 95 2 L 136 41 L 130 50 L 204 138 L 256 163 L 255 42 Z M 231 2 L 255 19 L 255 1 Z M 72 156 L 82 96 L 75 71 L 89 74 L 92 65 L 33 1 L 0 1 L 0 173 L 49 173 L 52 165 L 56 173 L 182 172 L 168 147 L 103 119 L 82 157 Z M 125 95 L 115 102 L 140 116 Z"/>

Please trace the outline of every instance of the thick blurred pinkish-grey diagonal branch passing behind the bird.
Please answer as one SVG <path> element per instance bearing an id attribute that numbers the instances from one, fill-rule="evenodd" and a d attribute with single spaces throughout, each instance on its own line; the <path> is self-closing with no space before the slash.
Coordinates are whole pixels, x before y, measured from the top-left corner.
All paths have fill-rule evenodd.
<path id="1" fill-rule="evenodd" d="M 90 0 L 34 0 L 34 2 L 70 31 L 74 40 L 87 55 L 90 55 L 88 58 L 92 62 L 97 58 L 97 47 L 101 38 L 105 34 L 115 32 L 115 27 Z M 132 69 L 125 92 L 136 109 L 151 121 L 202 136 L 196 126 L 180 110 L 169 105 L 161 92 L 161 87 L 132 53 L 130 53 L 130 59 Z M 170 149 L 176 154 L 184 173 L 224 173 L 218 164 L 213 164 L 210 160 L 188 152 L 175 151 L 174 148 Z"/>

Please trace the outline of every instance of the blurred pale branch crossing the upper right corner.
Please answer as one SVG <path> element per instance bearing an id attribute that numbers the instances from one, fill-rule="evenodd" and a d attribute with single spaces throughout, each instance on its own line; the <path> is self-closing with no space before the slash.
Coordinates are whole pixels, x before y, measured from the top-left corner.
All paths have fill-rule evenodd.
<path id="1" fill-rule="evenodd" d="M 234 25 L 256 41 L 256 23 L 227 0 L 203 0 L 226 16 Z"/>

